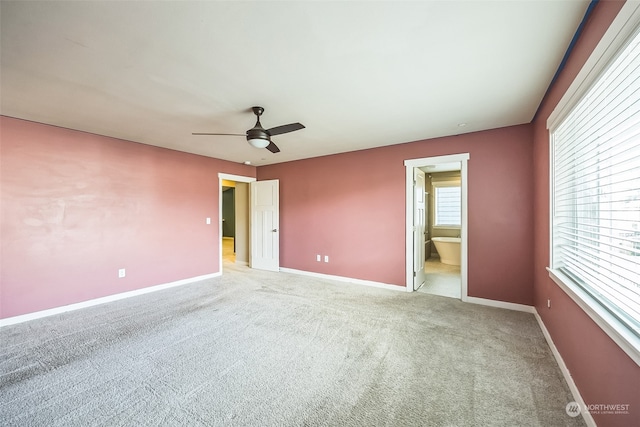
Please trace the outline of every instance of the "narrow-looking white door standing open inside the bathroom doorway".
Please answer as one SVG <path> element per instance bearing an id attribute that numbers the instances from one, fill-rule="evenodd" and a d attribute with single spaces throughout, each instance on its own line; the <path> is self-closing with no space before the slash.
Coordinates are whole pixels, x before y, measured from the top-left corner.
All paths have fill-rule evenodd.
<path id="1" fill-rule="evenodd" d="M 426 199 L 424 172 L 413 169 L 413 290 L 417 290 L 425 280 L 425 222 Z"/>

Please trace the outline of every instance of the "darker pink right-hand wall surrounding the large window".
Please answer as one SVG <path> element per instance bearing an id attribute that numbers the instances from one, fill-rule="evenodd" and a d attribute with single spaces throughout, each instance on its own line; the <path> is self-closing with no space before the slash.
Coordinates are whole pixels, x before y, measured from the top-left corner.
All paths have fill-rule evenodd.
<path id="1" fill-rule="evenodd" d="M 640 368 L 550 278 L 549 134 L 546 121 L 624 2 L 594 9 L 534 122 L 535 306 L 587 404 L 629 404 L 630 414 L 596 415 L 602 426 L 640 425 Z M 551 309 L 547 309 L 547 299 Z"/>

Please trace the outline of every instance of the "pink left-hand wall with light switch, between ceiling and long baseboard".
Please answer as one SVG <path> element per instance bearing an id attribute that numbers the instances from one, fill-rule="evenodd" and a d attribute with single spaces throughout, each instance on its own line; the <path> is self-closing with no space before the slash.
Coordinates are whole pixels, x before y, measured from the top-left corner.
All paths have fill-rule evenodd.
<path id="1" fill-rule="evenodd" d="M 218 172 L 254 167 L 0 120 L 0 317 L 219 271 Z"/>

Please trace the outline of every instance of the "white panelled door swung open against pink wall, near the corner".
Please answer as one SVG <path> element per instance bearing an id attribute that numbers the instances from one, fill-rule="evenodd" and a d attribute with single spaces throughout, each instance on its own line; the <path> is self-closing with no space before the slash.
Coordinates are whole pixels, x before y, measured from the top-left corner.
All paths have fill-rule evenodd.
<path id="1" fill-rule="evenodd" d="M 280 270 L 279 181 L 251 183 L 251 268 Z"/>

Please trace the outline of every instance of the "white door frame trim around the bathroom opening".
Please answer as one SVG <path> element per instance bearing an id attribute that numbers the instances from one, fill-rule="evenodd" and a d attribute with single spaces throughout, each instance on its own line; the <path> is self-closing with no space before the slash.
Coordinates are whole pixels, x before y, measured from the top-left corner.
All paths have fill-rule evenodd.
<path id="1" fill-rule="evenodd" d="M 468 169 L 469 153 L 451 154 L 446 156 L 423 157 L 419 159 L 407 159 L 404 161 L 406 167 L 406 217 L 405 217 L 405 285 L 407 292 L 413 291 L 413 170 L 424 166 L 438 165 L 443 163 L 460 162 L 461 176 L 461 214 L 462 224 L 460 224 L 460 282 L 461 300 L 468 300 Z"/>

